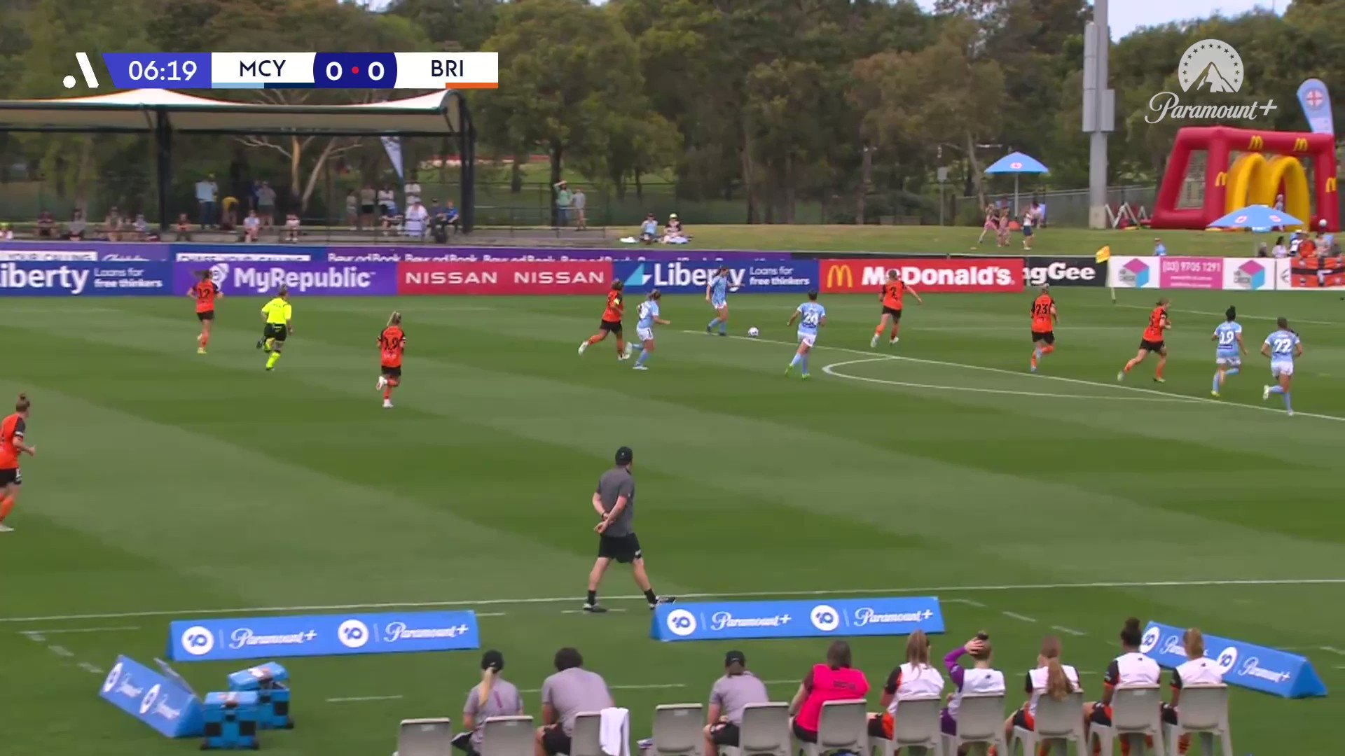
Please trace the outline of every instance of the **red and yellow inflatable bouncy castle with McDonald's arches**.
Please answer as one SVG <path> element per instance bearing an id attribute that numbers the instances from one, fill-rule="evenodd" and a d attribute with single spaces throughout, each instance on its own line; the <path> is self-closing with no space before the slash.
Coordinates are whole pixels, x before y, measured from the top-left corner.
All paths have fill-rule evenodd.
<path id="1" fill-rule="evenodd" d="M 1178 209 L 1192 152 L 1206 151 L 1205 202 Z M 1232 164 L 1228 159 L 1239 153 Z M 1313 194 L 1301 157 L 1313 160 Z M 1275 204 L 1284 195 L 1284 211 L 1307 221 L 1321 219 L 1340 229 L 1336 194 L 1336 137 L 1328 133 L 1271 132 L 1228 126 L 1186 126 L 1177 132 L 1167 171 L 1158 188 L 1151 225 L 1154 229 L 1205 229 L 1210 222 L 1248 204 Z M 1313 198 L 1317 213 L 1313 214 Z"/>

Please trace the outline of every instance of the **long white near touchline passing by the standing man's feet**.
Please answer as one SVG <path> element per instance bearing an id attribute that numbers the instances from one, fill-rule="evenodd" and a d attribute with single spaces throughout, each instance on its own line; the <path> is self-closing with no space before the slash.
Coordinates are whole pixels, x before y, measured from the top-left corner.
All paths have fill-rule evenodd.
<path id="1" fill-rule="evenodd" d="M 685 593 L 681 599 L 790 599 L 808 596 L 881 596 L 886 593 L 985 593 L 1001 591 L 1068 591 L 1073 588 L 1209 588 L 1248 585 L 1345 585 L 1345 577 L 1302 577 L 1302 578 L 1244 578 L 1244 580 L 1151 580 L 1151 581 L 1098 581 L 1098 582 L 1025 582 L 1017 585 L 933 585 L 902 588 L 833 588 L 827 591 L 734 591 L 729 593 Z M 547 596 L 537 599 L 477 599 L 457 601 L 389 601 L 379 604 L 334 604 L 307 607 L 239 607 L 214 609 L 147 609 L 137 612 L 108 612 L 95 615 L 48 615 L 34 617 L 0 617 L 0 623 L 28 621 L 70 621 L 113 617 L 161 617 L 191 615 L 242 615 L 278 612 L 339 612 L 355 609 L 406 609 L 425 607 L 499 607 L 527 604 L 582 603 L 582 596 Z M 608 596 L 609 601 L 643 601 L 644 595 Z M 20 631 L 22 632 L 22 631 Z"/>

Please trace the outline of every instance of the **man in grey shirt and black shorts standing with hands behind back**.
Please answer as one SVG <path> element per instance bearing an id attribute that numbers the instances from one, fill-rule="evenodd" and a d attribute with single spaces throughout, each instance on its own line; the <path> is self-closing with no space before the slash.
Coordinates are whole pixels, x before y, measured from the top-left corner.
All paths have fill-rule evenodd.
<path id="1" fill-rule="evenodd" d="M 607 609 L 597 603 L 597 587 L 603 582 L 603 573 L 612 560 L 629 564 L 635 572 L 635 584 L 644 591 L 644 599 L 650 603 L 650 609 L 658 604 L 672 601 L 671 596 L 659 597 L 650 588 L 650 576 L 644 572 L 644 553 L 640 552 L 640 539 L 635 537 L 635 476 L 631 475 L 631 464 L 635 461 L 635 452 L 629 447 L 616 449 L 616 467 L 603 474 L 597 480 L 597 490 L 593 491 L 593 510 L 601 519 L 593 530 L 597 533 L 597 561 L 589 572 L 588 600 L 584 603 L 585 612 L 601 613 Z"/>

